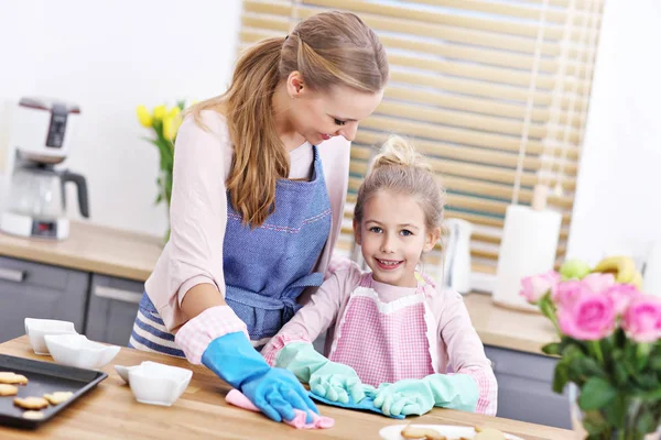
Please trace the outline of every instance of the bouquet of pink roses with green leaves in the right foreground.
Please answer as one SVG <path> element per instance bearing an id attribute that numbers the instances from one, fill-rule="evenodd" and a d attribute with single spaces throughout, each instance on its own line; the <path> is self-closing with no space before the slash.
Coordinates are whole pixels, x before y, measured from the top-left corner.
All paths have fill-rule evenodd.
<path id="1" fill-rule="evenodd" d="M 640 292 L 640 275 L 627 257 L 594 268 L 565 262 L 521 280 L 523 295 L 553 322 L 560 342 L 553 391 L 578 388 L 587 439 L 639 440 L 661 425 L 661 298 Z"/>

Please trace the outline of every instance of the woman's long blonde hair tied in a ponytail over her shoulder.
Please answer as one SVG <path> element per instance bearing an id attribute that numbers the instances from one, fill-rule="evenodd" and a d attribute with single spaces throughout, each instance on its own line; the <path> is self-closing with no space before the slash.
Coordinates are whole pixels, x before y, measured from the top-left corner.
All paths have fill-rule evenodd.
<path id="1" fill-rule="evenodd" d="M 271 100 L 280 81 L 296 70 L 306 87 L 322 92 L 334 86 L 378 92 L 388 81 L 383 46 L 349 12 L 312 15 L 286 37 L 263 40 L 242 53 L 229 89 L 191 112 L 202 127 L 202 110 L 225 113 L 235 144 L 227 190 L 232 207 L 253 228 L 275 208 L 275 182 L 289 176 L 289 156 L 275 131 Z"/>

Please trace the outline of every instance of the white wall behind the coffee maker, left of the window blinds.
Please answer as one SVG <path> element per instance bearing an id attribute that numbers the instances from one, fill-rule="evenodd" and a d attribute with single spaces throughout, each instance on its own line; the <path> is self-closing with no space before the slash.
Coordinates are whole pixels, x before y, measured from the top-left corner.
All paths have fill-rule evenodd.
<path id="1" fill-rule="evenodd" d="M 80 132 L 65 165 L 87 177 L 91 221 L 162 234 L 158 153 L 141 140 L 149 132 L 136 106 L 223 92 L 240 9 L 240 0 L 0 0 L 0 156 L 21 96 L 74 101 Z"/>

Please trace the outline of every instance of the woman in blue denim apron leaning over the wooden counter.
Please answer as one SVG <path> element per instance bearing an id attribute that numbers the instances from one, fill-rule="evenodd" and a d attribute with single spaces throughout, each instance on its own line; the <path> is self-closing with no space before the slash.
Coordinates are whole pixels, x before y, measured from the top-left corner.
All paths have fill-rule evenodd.
<path id="1" fill-rule="evenodd" d="M 351 13 L 319 13 L 242 54 L 229 90 L 180 128 L 172 233 L 130 346 L 203 363 L 273 420 L 316 411 L 294 375 L 253 346 L 323 282 L 349 144 L 387 80 L 383 47 Z"/>

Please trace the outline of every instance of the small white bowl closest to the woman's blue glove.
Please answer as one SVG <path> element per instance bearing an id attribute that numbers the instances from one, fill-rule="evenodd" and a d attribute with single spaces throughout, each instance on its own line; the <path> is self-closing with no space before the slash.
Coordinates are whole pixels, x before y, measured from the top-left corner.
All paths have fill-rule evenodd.
<path id="1" fill-rule="evenodd" d="M 121 365 L 115 365 L 115 370 Z M 171 406 L 184 393 L 193 371 L 145 361 L 140 365 L 128 366 L 128 384 L 136 400 L 142 404 Z M 120 377 L 122 369 L 117 370 Z M 123 377 L 122 377 L 123 378 Z"/>

